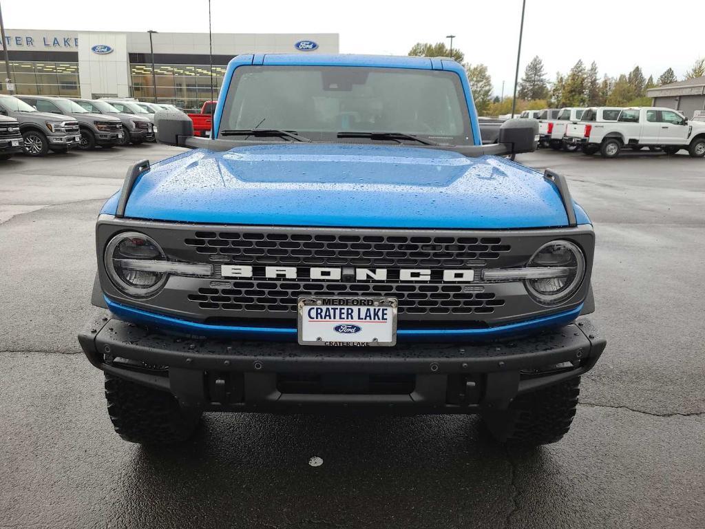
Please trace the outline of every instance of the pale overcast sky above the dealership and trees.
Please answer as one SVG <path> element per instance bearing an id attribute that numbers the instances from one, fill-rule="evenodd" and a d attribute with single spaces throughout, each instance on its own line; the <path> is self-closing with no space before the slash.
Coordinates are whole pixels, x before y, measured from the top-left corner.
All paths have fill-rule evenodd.
<path id="1" fill-rule="evenodd" d="M 6 28 L 207 32 L 207 0 L 0 0 Z M 405 55 L 415 42 L 453 46 L 471 63 L 485 63 L 497 95 L 514 82 L 521 0 L 369 1 L 212 0 L 213 32 L 332 32 L 341 53 Z M 582 59 L 600 75 L 627 73 L 637 64 L 646 78 L 673 68 L 678 78 L 705 56 L 703 0 L 527 0 L 521 73 L 534 55 L 549 78 Z"/>

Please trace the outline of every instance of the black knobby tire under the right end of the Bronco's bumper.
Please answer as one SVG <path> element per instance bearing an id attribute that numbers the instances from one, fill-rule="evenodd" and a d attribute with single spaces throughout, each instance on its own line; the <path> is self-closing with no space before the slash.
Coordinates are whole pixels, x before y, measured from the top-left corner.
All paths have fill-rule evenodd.
<path id="1" fill-rule="evenodd" d="M 560 441 L 570 430 L 580 395 L 580 377 L 518 396 L 508 411 L 484 414 L 494 437 L 517 446 Z"/>

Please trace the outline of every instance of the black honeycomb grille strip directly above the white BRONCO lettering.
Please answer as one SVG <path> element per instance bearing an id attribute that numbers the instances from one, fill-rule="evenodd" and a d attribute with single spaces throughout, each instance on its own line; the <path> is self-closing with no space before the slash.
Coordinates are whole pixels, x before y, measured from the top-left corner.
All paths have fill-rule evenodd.
<path id="1" fill-rule="evenodd" d="M 197 231 L 193 235 L 184 243 L 197 253 L 259 265 L 467 267 L 477 260 L 496 260 L 511 250 L 498 237 L 249 231 Z"/>

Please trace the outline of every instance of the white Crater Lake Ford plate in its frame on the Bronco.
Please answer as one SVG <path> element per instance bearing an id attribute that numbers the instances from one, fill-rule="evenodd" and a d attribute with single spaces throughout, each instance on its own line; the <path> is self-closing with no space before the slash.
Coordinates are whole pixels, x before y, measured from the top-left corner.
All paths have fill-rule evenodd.
<path id="1" fill-rule="evenodd" d="M 396 298 L 298 298 L 302 346 L 396 345 Z"/>

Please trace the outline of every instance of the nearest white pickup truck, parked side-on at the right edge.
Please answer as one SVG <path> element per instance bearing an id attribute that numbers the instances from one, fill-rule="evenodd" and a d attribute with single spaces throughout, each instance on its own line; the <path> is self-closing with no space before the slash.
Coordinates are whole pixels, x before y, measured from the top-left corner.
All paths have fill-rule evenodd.
<path id="1" fill-rule="evenodd" d="M 599 149 L 606 158 L 618 156 L 623 147 L 661 147 L 666 154 L 685 149 L 692 157 L 705 156 L 705 122 L 691 121 L 673 109 L 632 107 L 617 121 L 597 128 L 586 123 L 582 145 Z"/>

